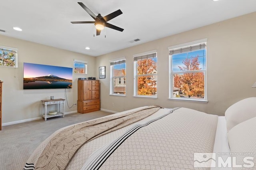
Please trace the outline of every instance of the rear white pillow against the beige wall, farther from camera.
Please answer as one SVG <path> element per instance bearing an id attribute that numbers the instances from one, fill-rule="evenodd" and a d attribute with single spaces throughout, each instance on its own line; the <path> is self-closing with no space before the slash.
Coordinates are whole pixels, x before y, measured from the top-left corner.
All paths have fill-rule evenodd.
<path id="1" fill-rule="evenodd" d="M 250 97 L 238 101 L 230 106 L 226 112 L 227 130 L 248 119 L 256 117 L 256 97 Z"/>

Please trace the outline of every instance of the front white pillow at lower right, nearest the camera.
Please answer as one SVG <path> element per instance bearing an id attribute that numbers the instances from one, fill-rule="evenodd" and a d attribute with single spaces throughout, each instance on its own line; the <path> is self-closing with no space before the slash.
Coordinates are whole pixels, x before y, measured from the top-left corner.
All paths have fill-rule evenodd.
<path id="1" fill-rule="evenodd" d="M 231 153 L 237 153 L 236 164 L 243 165 L 244 157 L 252 156 L 254 159 L 251 164 L 256 168 L 256 117 L 236 125 L 228 132 L 228 144 Z"/>

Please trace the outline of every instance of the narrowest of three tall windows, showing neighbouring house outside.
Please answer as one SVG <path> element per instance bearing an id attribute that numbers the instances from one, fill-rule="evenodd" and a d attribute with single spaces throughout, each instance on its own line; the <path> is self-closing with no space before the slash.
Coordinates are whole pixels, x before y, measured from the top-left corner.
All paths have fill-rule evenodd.
<path id="1" fill-rule="evenodd" d="M 126 63 L 124 58 L 110 61 L 110 95 L 126 93 Z M 124 83 L 122 83 L 124 82 Z"/>

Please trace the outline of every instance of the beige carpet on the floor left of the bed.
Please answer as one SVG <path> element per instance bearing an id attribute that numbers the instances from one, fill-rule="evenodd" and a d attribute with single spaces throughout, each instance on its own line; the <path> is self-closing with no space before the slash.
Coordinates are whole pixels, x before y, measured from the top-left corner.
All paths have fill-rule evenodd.
<path id="1" fill-rule="evenodd" d="M 0 131 L 0 170 L 22 170 L 34 149 L 59 128 L 96 119 L 112 113 L 96 111 L 37 120 L 2 127 Z"/>

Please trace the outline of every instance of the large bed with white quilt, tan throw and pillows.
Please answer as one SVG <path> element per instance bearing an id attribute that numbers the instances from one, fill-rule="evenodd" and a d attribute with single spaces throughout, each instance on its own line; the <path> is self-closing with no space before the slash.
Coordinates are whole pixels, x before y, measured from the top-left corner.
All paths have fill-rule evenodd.
<path id="1" fill-rule="evenodd" d="M 225 117 L 146 106 L 70 125 L 44 140 L 24 170 L 254 169 L 254 103 L 239 101 Z"/>

